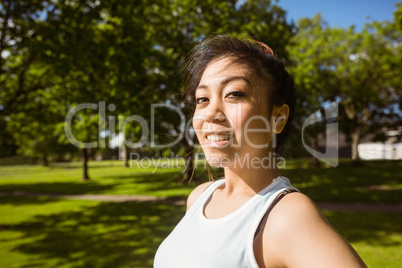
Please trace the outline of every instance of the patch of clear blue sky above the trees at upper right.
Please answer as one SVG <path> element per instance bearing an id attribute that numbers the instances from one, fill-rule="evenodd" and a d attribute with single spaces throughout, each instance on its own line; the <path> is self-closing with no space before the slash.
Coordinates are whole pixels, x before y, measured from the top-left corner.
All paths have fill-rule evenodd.
<path id="1" fill-rule="evenodd" d="M 401 0 L 279 0 L 278 6 L 287 11 L 288 21 L 296 22 L 321 12 L 332 27 L 355 25 L 361 30 L 365 23 L 373 20 L 392 21 L 398 2 Z"/>

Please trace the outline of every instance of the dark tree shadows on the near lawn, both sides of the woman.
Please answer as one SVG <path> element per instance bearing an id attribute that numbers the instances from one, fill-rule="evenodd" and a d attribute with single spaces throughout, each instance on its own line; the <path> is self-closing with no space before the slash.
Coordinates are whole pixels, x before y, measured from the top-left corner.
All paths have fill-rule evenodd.
<path id="1" fill-rule="evenodd" d="M 16 239 L 24 242 L 13 251 L 29 263 L 20 267 L 152 267 L 157 247 L 183 214 L 184 207 L 167 204 L 100 203 L 2 227 L 21 234 Z M 402 233 L 401 214 L 325 214 L 349 242 L 401 245 L 392 239 Z"/>

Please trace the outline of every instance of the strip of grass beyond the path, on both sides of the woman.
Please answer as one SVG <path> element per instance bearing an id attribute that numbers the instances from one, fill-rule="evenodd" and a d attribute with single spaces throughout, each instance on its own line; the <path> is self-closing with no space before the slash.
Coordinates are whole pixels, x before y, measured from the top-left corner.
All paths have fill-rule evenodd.
<path id="1" fill-rule="evenodd" d="M 359 167 L 342 161 L 336 168 L 308 167 L 308 164 L 308 161 L 288 161 L 283 174 L 316 202 L 402 203 L 402 161 L 363 162 Z M 121 161 L 90 162 L 88 182 L 80 180 L 80 163 L 5 166 L 0 167 L 0 192 L 184 197 L 200 182 L 181 183 L 183 167 L 177 166 L 140 169 L 136 164 L 134 168 L 124 168 Z M 201 168 L 197 170 L 201 173 L 198 177 L 207 177 Z M 388 188 L 373 190 L 370 186 Z"/>

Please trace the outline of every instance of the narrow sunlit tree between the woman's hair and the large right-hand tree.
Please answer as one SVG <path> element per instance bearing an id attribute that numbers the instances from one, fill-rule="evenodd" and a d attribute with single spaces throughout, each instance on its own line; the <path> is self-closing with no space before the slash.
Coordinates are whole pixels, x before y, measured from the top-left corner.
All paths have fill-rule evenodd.
<path id="1" fill-rule="evenodd" d="M 327 62 L 328 50 L 325 44 L 330 42 L 331 36 L 324 34 L 327 23 L 320 14 L 309 19 L 301 19 L 297 22 L 296 34 L 287 45 L 290 54 L 289 69 L 293 75 L 297 88 L 297 105 L 295 114 L 295 130 L 290 138 L 293 147 L 298 148 L 296 155 L 300 153 L 300 137 L 302 131 L 306 141 L 310 141 L 311 147 L 318 152 L 319 136 L 324 134 L 322 124 L 309 125 L 301 129 L 302 123 L 309 116 L 317 116 L 325 119 L 324 105 L 332 99 L 332 94 L 328 90 L 328 84 L 334 83 L 331 70 L 323 68 Z M 320 49 L 317 49 L 320 48 Z M 322 120 L 320 120 L 322 121 Z M 319 166 L 320 161 L 317 155 L 313 155 L 315 165 Z"/>

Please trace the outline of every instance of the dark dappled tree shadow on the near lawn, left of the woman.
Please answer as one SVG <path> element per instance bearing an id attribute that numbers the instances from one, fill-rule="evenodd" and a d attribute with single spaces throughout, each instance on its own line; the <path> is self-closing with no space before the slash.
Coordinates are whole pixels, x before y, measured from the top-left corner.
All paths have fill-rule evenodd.
<path id="1" fill-rule="evenodd" d="M 13 249 L 35 258 L 23 267 L 152 267 L 157 247 L 183 215 L 182 206 L 100 203 L 3 227 L 34 240 Z"/>

